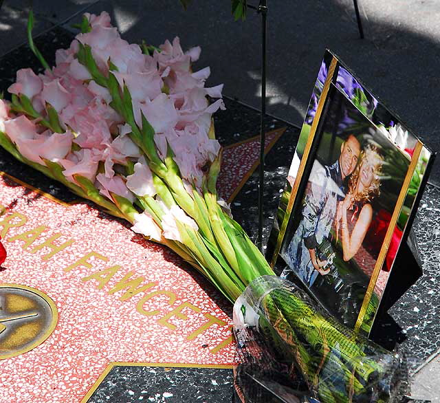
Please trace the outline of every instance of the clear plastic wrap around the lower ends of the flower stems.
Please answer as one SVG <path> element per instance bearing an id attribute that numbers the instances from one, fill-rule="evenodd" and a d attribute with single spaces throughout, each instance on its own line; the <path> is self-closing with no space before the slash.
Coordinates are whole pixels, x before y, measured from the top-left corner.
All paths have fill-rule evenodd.
<path id="1" fill-rule="evenodd" d="M 403 355 L 354 334 L 277 276 L 255 279 L 237 299 L 234 334 L 244 402 L 401 402 L 408 393 Z"/>

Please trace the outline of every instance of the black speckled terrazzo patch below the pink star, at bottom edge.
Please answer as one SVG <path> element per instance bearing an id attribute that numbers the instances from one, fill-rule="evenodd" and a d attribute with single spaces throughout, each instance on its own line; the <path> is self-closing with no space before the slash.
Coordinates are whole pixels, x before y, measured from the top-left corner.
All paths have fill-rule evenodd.
<path id="1" fill-rule="evenodd" d="M 230 403 L 232 389 L 232 369 L 113 367 L 88 402 Z"/>

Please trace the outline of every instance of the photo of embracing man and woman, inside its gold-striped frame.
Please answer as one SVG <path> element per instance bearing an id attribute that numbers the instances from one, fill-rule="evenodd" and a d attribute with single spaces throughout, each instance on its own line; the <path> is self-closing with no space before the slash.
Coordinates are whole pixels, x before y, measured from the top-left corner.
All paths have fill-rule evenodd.
<path id="1" fill-rule="evenodd" d="M 331 314 L 354 327 L 410 155 L 338 87 L 332 84 L 330 93 L 307 185 L 296 196 L 301 203 L 289 217 L 280 250 L 285 261 L 281 276 L 299 279 Z M 374 285 L 366 329 L 388 274 L 384 265 Z"/>

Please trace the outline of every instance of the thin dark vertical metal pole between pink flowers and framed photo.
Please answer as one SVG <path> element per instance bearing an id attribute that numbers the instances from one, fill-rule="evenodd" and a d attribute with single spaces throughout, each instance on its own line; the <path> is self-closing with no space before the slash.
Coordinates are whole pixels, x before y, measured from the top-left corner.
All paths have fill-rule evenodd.
<path id="1" fill-rule="evenodd" d="M 267 1 L 261 0 L 259 5 L 261 13 L 261 115 L 260 115 L 260 181 L 259 181 L 259 231 L 256 237 L 256 246 L 263 252 L 263 191 L 264 191 L 264 150 L 265 130 L 264 118 L 266 113 L 266 29 L 267 29 Z"/>

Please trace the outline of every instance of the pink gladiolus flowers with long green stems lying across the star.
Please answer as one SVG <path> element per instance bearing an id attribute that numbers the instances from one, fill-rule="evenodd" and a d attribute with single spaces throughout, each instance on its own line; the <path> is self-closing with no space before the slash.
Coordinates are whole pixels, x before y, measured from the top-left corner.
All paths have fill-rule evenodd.
<path id="1" fill-rule="evenodd" d="M 192 71 L 200 48 L 183 52 L 178 38 L 159 47 L 127 43 L 107 12 L 85 14 L 80 28 L 69 49 L 57 50 L 52 68 L 30 35 L 45 72 L 19 70 L 8 89 L 12 100 L 0 100 L 1 146 L 107 213 L 126 219 L 133 231 L 171 248 L 232 303 L 254 279 L 274 277 L 217 196 L 221 146 L 214 137 L 212 113 L 224 109 L 222 86 L 205 87 L 208 67 Z M 298 312 L 285 311 L 291 299 L 303 306 L 307 326 L 298 325 Z M 332 349 L 322 357 L 328 341 L 320 326 L 333 329 L 334 323 L 325 318 L 314 323 L 302 295 L 287 292 L 275 298 L 271 293 L 264 301 L 283 312 L 298 336 L 299 341 L 285 342 L 307 350 L 304 359 L 309 360 L 299 367 L 306 378 L 316 360 L 325 367 L 337 359 Z M 277 328 L 269 319 L 265 336 L 272 342 Z M 300 347 L 311 334 L 316 353 Z M 347 334 L 335 335 L 340 345 L 349 340 Z M 280 342 L 273 347 L 281 348 L 280 353 L 285 349 Z M 353 359 L 366 355 L 361 348 L 347 350 L 352 353 Z M 375 373 L 382 374 L 381 368 L 382 362 L 375 364 Z M 345 385 L 341 393 L 351 391 L 353 379 L 347 371 L 339 376 Z M 322 373 L 316 372 L 318 384 Z M 355 383 L 355 391 L 361 393 L 362 387 L 361 381 Z"/>

